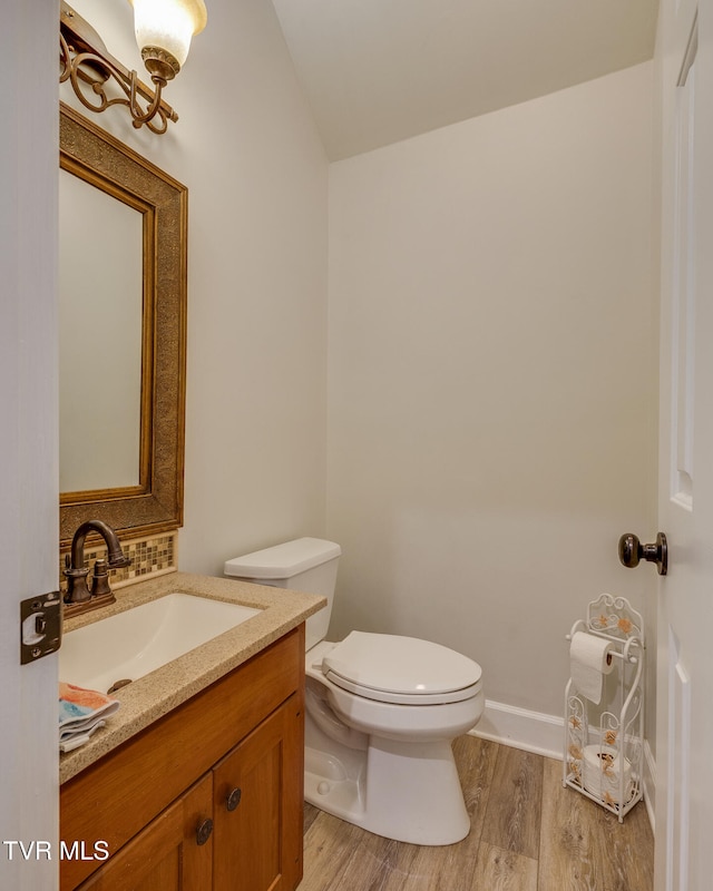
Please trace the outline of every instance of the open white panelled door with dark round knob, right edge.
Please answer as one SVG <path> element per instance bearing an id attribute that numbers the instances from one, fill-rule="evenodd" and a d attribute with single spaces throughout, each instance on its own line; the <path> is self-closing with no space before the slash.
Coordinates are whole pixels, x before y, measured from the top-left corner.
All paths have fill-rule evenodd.
<path id="1" fill-rule="evenodd" d="M 713 875 L 713 0 L 662 0 L 656 891 Z M 639 570 L 641 571 L 641 570 Z"/>

